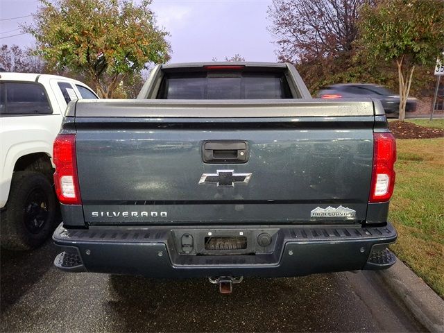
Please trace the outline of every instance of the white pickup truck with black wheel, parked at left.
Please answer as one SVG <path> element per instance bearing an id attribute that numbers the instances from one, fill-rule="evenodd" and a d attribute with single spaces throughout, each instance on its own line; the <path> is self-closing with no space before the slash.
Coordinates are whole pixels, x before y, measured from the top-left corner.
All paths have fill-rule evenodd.
<path id="1" fill-rule="evenodd" d="M 28 250 L 56 226 L 53 141 L 69 101 L 97 99 L 62 76 L 0 72 L 1 246 Z"/>

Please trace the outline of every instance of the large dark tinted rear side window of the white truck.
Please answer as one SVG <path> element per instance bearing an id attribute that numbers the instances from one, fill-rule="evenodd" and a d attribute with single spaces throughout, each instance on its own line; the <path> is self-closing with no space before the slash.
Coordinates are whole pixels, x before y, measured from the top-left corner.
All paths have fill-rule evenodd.
<path id="1" fill-rule="evenodd" d="M 0 114 L 31 115 L 52 114 L 45 89 L 40 83 L 0 83 Z"/>

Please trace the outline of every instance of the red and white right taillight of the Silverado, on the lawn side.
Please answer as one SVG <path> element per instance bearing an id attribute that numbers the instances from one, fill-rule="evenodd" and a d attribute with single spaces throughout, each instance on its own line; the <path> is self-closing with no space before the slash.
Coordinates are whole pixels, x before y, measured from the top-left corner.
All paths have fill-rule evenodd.
<path id="1" fill-rule="evenodd" d="M 396 142 L 391 133 L 373 133 L 373 173 L 370 203 L 388 201 L 395 185 Z"/>

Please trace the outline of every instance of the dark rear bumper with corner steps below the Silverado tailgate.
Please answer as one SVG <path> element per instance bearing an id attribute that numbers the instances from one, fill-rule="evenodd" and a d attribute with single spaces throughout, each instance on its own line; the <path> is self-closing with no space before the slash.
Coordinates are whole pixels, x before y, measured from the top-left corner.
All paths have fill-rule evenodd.
<path id="1" fill-rule="evenodd" d="M 223 234 L 224 229 L 211 230 L 213 234 Z M 244 230 L 248 234 L 259 229 L 237 226 L 236 230 Z M 268 229 L 261 228 L 260 232 L 264 230 Z M 285 277 L 384 269 L 395 263 L 395 257 L 386 249 L 397 238 L 390 223 L 377 228 L 287 225 L 269 230 L 273 233 L 273 244 L 268 253 L 186 255 L 180 253 L 173 239 L 177 229 L 65 229 L 59 225 L 53 240 L 62 247 L 63 252 L 56 257 L 54 264 L 64 271 L 191 278 L 240 275 Z M 210 229 L 205 232 L 210 232 Z"/>

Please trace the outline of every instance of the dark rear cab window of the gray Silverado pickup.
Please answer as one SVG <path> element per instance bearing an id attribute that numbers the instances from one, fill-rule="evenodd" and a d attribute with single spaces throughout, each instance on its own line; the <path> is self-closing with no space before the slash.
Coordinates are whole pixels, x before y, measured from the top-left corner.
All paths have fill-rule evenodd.
<path id="1" fill-rule="evenodd" d="M 284 71 L 165 72 L 157 99 L 291 99 Z"/>

